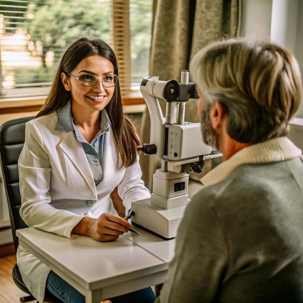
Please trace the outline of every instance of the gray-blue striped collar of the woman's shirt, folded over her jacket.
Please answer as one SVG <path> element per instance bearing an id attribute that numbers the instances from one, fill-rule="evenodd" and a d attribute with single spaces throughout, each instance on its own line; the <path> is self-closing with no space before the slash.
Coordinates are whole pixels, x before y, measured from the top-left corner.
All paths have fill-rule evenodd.
<path id="1" fill-rule="evenodd" d="M 104 108 L 101 111 L 101 122 L 100 122 L 100 131 L 108 132 L 111 128 L 111 122 L 108 117 L 108 113 Z M 72 109 L 71 102 L 68 101 L 58 112 L 58 122 L 55 127 L 56 131 L 59 132 L 72 132 L 74 130 L 73 118 L 72 118 Z"/>

